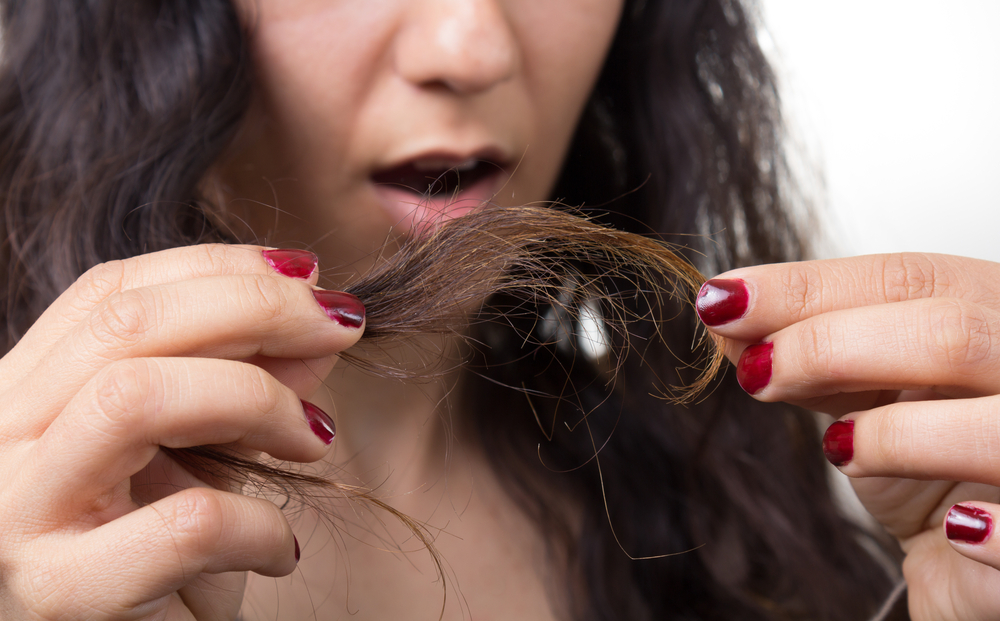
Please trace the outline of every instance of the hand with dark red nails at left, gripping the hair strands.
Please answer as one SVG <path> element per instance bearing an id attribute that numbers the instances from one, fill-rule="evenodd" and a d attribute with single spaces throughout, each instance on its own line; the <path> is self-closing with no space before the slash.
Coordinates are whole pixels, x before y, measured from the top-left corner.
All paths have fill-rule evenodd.
<path id="1" fill-rule="evenodd" d="M 300 399 L 364 309 L 315 268 L 224 245 L 103 264 L 0 360 L 0 617 L 232 619 L 243 572 L 295 568 L 277 507 L 160 447 L 326 454 L 333 423 Z"/>

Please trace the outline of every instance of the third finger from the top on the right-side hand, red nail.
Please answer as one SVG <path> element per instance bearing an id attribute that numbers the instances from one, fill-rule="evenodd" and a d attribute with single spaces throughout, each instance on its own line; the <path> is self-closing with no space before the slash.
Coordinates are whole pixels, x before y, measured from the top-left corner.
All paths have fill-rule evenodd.
<path id="1" fill-rule="evenodd" d="M 1000 484 L 1000 397 L 893 403 L 830 425 L 823 451 L 851 477 Z"/>

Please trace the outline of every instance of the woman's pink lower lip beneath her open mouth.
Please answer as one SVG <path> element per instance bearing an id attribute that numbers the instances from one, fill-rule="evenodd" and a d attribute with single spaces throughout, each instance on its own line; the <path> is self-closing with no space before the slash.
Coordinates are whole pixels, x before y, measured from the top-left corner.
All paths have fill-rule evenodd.
<path id="1" fill-rule="evenodd" d="M 420 196 L 391 185 L 378 184 L 375 194 L 382 209 L 393 223 L 393 230 L 404 234 L 431 229 L 442 222 L 458 218 L 492 201 L 507 175 L 483 177 L 458 194 Z"/>

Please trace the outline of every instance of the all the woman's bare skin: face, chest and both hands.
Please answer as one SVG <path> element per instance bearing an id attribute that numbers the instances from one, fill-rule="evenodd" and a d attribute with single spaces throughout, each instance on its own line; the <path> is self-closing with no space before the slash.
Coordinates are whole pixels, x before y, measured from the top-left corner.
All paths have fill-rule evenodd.
<path id="1" fill-rule="evenodd" d="M 239 199 L 270 241 L 310 244 L 333 284 L 364 269 L 398 224 L 370 174 L 400 157 L 492 145 L 521 161 L 498 201 L 547 198 L 620 6 L 259 0 L 246 10 L 259 99 L 205 182 Z M 997 540 L 949 543 L 941 521 L 956 501 L 995 512 L 1000 500 L 1000 442 L 983 433 L 997 427 L 997 272 L 907 255 L 723 276 L 750 289 L 744 317 L 714 328 L 730 357 L 775 343 L 757 398 L 851 412 L 855 454 L 843 470 L 909 553 L 916 619 L 996 617 Z M 437 535 L 448 618 L 558 615 L 537 533 L 435 414 L 447 384 L 334 369 L 362 329 L 322 312 L 318 282 L 318 272 L 277 274 L 257 247 L 203 246 L 99 266 L 53 304 L 0 360 L 0 616 L 438 617 L 429 557 L 391 519 L 377 530 L 378 518 L 334 504 L 347 520 L 339 530 L 309 511 L 290 524 L 274 504 L 198 480 L 158 450 L 202 444 L 321 461 L 347 482 L 378 484 Z M 300 398 L 336 418 L 334 451 Z M 295 570 L 293 532 L 300 571 L 254 578 L 244 601 L 245 572 Z"/>

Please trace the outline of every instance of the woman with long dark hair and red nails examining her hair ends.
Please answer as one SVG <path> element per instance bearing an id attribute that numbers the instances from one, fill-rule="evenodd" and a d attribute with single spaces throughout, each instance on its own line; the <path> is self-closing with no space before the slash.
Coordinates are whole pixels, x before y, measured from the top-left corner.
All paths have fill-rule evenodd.
<path id="1" fill-rule="evenodd" d="M 799 258 L 779 193 L 773 83 L 741 5 L 3 6 L 7 617 L 439 614 L 432 558 L 384 514 L 332 499 L 290 525 L 269 500 L 199 479 L 160 450 L 219 444 L 325 460 L 331 476 L 377 488 L 422 522 L 452 587 L 448 618 L 857 619 L 887 596 L 892 579 L 830 498 L 811 416 L 759 404 L 732 378 L 696 407 L 670 408 L 649 396 L 686 378 L 672 377 L 665 347 L 628 358 L 610 388 L 599 364 L 558 348 L 525 358 L 496 325 L 474 328 L 488 347 L 456 383 L 333 368 L 364 311 L 330 289 L 366 272 L 392 235 L 483 200 L 613 201 L 606 221 L 683 236 L 711 271 Z M 258 237 L 306 243 L 318 264 L 301 251 L 199 245 Z M 762 401 L 839 414 L 897 396 L 874 389 L 989 394 L 967 385 L 972 367 L 933 356 L 921 375 L 912 358 L 872 369 L 849 339 L 822 358 L 796 348 L 822 344 L 798 332 L 818 326 L 907 325 L 895 304 L 875 303 L 992 269 L 883 261 L 889 276 L 876 284 L 905 275 L 895 289 L 826 276 L 878 265 L 744 268 L 709 285 L 702 317 L 734 360 L 749 352 L 739 375 Z M 912 265 L 942 270 L 929 279 L 902 269 Z M 928 312 L 993 312 L 992 298 L 954 286 L 971 301 Z M 675 320 L 670 349 L 687 351 L 697 330 L 690 313 Z M 986 353 L 945 363 L 988 364 L 988 349 L 946 336 L 952 347 L 935 352 Z M 760 340 L 771 345 L 747 347 Z M 844 366 L 845 347 L 865 373 Z M 815 360 L 829 365 L 801 362 Z M 549 398 L 567 382 L 572 398 Z M 836 392 L 851 394 L 821 398 Z M 869 429 L 882 412 L 833 428 L 828 448 L 848 474 L 993 482 L 952 450 L 951 433 L 921 435 L 934 444 L 920 460 L 904 450 L 919 448 L 910 436 L 880 443 Z M 987 617 L 993 570 L 948 547 L 938 514 L 952 500 L 996 500 L 992 488 L 878 481 L 863 496 L 909 548 L 915 617 Z M 988 562 L 989 542 L 955 545 Z M 296 567 L 291 583 L 243 573 Z M 942 599 L 932 571 L 961 597 Z"/>

